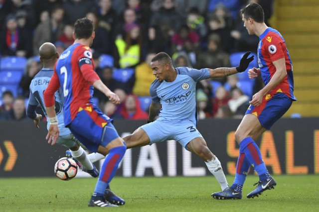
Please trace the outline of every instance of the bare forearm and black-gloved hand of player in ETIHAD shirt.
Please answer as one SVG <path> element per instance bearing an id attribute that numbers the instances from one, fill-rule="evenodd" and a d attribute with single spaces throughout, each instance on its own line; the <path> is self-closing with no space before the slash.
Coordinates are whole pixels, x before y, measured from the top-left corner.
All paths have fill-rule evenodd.
<path id="1" fill-rule="evenodd" d="M 246 52 L 243 57 L 240 59 L 239 66 L 234 68 L 217 68 L 217 69 L 209 69 L 210 72 L 210 78 L 221 78 L 230 76 L 239 72 L 244 72 L 249 66 L 249 63 L 254 60 L 254 55 L 249 57 L 249 54 L 251 52 Z"/>

